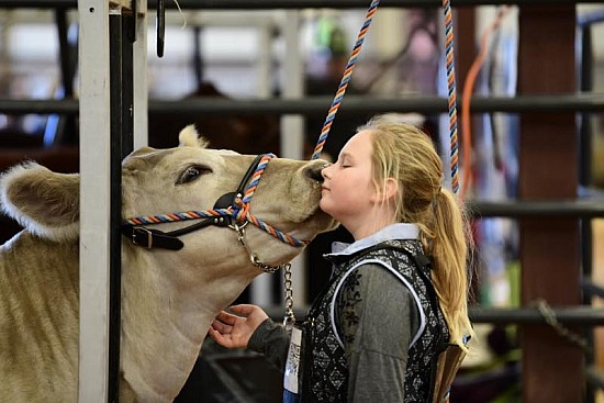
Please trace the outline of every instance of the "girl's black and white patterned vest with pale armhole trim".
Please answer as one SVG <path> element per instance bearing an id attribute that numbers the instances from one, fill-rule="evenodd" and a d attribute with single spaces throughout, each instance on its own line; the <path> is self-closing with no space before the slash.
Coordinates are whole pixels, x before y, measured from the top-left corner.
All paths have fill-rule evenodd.
<path id="1" fill-rule="evenodd" d="M 409 350 L 404 401 L 428 402 L 432 398 L 436 359 L 446 348 L 449 334 L 429 280 L 429 260 L 423 255 L 421 243 L 388 240 L 353 256 L 345 256 L 345 259 L 340 258 L 334 261 L 333 278 L 313 303 L 304 324 L 302 402 L 347 400 L 347 357 L 331 312 L 335 310 L 333 304 L 346 277 L 363 264 L 383 266 L 415 294 L 421 326 Z"/>

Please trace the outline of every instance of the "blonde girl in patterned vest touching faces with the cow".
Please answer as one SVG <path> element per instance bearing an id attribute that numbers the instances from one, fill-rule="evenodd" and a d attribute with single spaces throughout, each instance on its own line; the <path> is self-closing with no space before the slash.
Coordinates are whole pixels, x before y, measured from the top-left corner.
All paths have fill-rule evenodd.
<path id="1" fill-rule="evenodd" d="M 355 242 L 334 243 L 325 255 L 332 278 L 302 334 L 294 328 L 290 335 L 258 306 L 235 305 L 209 335 L 286 367 L 286 401 L 292 392 L 304 403 L 440 399 L 435 389 L 451 378 L 437 374 L 438 357 L 449 344 L 467 350 L 473 332 L 467 226 L 441 187 L 430 138 L 395 115 L 377 116 L 322 176 L 320 206 Z"/>

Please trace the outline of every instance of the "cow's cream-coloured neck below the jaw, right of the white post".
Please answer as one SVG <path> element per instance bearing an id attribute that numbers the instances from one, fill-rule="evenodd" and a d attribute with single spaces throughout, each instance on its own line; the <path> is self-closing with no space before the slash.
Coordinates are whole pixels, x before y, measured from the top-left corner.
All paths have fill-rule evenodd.
<path id="1" fill-rule="evenodd" d="M 227 279 L 205 277 L 199 258 L 195 267 L 181 258 L 176 267 L 169 254 L 138 254 L 136 259 L 124 266 L 136 269 L 123 272 L 124 377 L 142 401 L 171 401 L 191 372 L 210 323 L 254 275 L 225 269 L 220 271 L 228 272 Z"/>

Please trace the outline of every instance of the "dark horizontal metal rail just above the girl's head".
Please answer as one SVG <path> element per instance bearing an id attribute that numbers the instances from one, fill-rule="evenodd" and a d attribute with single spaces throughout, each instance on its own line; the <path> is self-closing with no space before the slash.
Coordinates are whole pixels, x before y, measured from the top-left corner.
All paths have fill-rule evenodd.
<path id="1" fill-rule="evenodd" d="M 368 99 L 371 101 L 368 102 Z M 325 114 L 332 99 L 328 97 L 306 97 L 300 100 L 250 99 L 225 100 L 216 98 L 194 98 L 186 101 L 150 100 L 148 110 L 152 113 L 183 114 Z M 459 105 L 459 109 L 462 107 Z M 16 100 L 0 99 L 0 111 L 8 114 L 24 113 L 61 113 L 77 114 L 78 101 L 65 100 Z M 473 113 L 502 112 L 603 112 L 604 94 L 551 94 L 508 97 L 473 97 L 470 103 Z M 348 96 L 343 102 L 340 113 L 380 113 L 380 112 L 416 112 L 424 114 L 446 113 L 447 99 L 440 97 L 409 96 L 405 98 L 369 98 Z"/>

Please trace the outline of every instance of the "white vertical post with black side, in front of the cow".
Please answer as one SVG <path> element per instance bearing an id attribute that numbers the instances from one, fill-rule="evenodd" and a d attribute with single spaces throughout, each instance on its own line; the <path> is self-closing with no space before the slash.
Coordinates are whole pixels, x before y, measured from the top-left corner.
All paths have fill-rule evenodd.
<path id="1" fill-rule="evenodd" d="M 78 11 L 80 295 L 86 295 L 80 298 L 78 401 L 118 402 L 121 163 L 133 148 L 136 13 L 124 18 L 107 0 L 80 0 Z"/>

